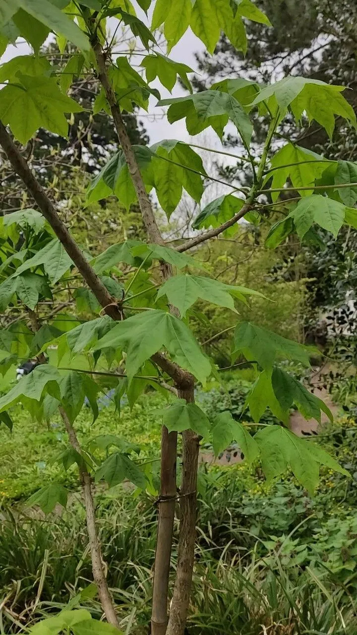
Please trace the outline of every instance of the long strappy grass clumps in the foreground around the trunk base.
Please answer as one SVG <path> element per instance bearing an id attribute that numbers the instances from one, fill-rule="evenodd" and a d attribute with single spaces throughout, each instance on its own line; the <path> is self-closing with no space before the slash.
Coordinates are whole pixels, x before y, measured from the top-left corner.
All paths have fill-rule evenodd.
<path id="1" fill-rule="evenodd" d="M 100 493 L 97 504 L 121 628 L 144 635 L 150 617 L 155 511 L 147 497 L 135 500 L 120 486 Z M 100 618 L 97 598 L 78 598 L 91 580 L 81 505 L 74 501 L 50 522 L 15 518 L 10 512 L 4 516 L 1 632 L 19 632 L 68 603 L 80 603 Z M 217 546 L 201 532 L 187 626 L 190 635 L 355 635 L 357 618 L 353 596 L 342 585 L 327 584 L 321 573 L 299 566 L 289 571 L 278 554 L 267 562 L 259 556 L 257 541 L 241 551 L 238 541 Z"/>

